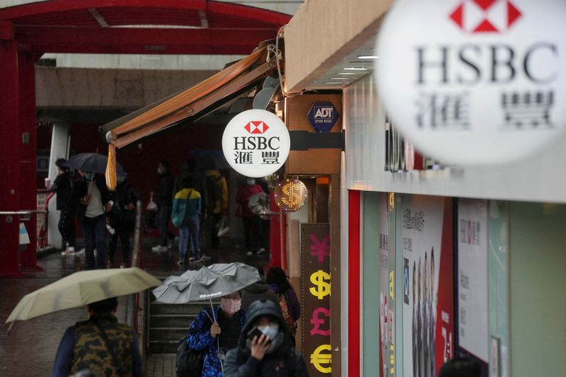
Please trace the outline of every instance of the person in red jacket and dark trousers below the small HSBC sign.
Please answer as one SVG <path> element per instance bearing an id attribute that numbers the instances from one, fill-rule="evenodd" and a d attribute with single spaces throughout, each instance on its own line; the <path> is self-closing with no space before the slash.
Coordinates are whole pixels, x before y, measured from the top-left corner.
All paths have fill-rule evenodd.
<path id="1" fill-rule="evenodd" d="M 265 240 L 262 239 L 260 216 L 255 214 L 249 207 L 250 197 L 263 192 L 254 178 L 246 178 L 246 185 L 240 187 L 236 193 L 236 216 L 241 216 L 243 221 L 243 232 L 246 240 L 246 255 L 251 256 L 254 252 L 265 252 Z"/>

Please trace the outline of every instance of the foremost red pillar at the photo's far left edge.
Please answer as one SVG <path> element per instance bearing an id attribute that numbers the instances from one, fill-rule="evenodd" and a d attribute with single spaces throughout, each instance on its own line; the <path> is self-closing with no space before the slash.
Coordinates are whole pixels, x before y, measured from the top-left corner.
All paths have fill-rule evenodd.
<path id="1" fill-rule="evenodd" d="M 0 211 L 20 209 L 18 44 L 12 35 L 11 23 L 0 22 Z M 0 215 L 0 240 L 0 276 L 21 276 L 18 216 Z"/>

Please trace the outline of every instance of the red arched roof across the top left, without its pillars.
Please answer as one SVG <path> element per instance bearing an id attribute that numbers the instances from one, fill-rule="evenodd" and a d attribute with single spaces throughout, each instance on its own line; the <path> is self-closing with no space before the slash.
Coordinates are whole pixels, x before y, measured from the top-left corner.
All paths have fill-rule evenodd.
<path id="1" fill-rule="evenodd" d="M 34 53 L 248 54 L 290 18 L 207 0 L 52 0 L 0 9 L 0 35 Z"/>

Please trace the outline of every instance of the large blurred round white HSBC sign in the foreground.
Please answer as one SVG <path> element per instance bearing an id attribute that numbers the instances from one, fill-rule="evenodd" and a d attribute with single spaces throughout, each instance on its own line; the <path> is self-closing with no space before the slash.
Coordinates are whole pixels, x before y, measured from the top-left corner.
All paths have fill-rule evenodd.
<path id="1" fill-rule="evenodd" d="M 380 98 L 443 163 L 523 158 L 566 127 L 565 20 L 565 1 L 396 1 L 377 41 Z"/>

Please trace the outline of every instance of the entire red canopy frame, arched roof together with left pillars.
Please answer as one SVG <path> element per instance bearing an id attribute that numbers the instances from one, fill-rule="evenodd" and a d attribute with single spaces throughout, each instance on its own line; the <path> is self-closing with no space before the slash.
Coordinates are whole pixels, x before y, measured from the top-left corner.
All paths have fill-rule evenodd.
<path id="1" fill-rule="evenodd" d="M 208 0 L 50 0 L 1 8 L 0 277 L 37 269 L 36 216 L 24 221 L 31 243 L 19 245 L 23 220 L 15 213 L 37 206 L 35 61 L 42 54 L 249 54 L 290 18 Z"/>

